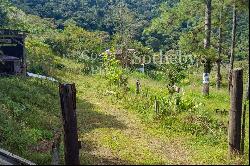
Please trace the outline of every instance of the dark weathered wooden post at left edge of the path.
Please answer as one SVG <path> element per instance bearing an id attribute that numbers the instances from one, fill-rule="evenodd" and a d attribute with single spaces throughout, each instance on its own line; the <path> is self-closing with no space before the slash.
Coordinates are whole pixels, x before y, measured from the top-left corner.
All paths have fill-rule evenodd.
<path id="1" fill-rule="evenodd" d="M 80 165 L 75 84 L 60 84 L 59 91 L 64 127 L 65 164 Z"/>

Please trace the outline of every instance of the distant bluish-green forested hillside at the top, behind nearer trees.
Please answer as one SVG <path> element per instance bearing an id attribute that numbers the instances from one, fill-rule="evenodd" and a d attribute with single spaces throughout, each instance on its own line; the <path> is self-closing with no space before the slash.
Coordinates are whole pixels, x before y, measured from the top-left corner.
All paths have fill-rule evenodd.
<path id="1" fill-rule="evenodd" d="M 116 0 L 11 0 L 17 7 L 25 12 L 44 18 L 54 18 L 58 23 L 68 19 L 74 19 L 77 24 L 88 30 L 101 30 L 110 33 L 115 32 L 115 16 L 119 12 L 121 1 Z M 136 19 L 141 28 L 149 25 L 150 20 L 158 16 L 157 8 L 162 0 L 125 0 L 122 1 Z"/>

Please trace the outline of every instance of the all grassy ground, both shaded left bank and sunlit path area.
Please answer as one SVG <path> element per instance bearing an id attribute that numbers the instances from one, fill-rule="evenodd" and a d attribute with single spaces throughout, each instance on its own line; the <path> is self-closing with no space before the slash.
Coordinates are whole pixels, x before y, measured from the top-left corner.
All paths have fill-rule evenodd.
<path id="1" fill-rule="evenodd" d="M 176 110 L 174 105 L 166 105 L 169 94 L 163 81 L 134 73 L 130 90 L 125 92 L 109 86 L 101 76 L 84 76 L 80 64 L 57 61 L 66 67 L 55 70 L 53 76 L 77 87 L 82 164 L 249 164 L 249 113 L 246 154 L 229 160 L 228 113 L 215 112 L 230 108 L 225 69 L 219 91 L 213 71 L 209 97 L 201 94 L 202 73 L 190 73 L 182 82 L 182 107 Z M 138 78 L 140 95 L 135 94 Z M 0 147 L 36 163 L 50 164 L 48 142 L 61 127 L 57 86 L 30 78 L 0 78 Z M 161 100 L 160 116 L 154 112 L 155 96 Z"/>

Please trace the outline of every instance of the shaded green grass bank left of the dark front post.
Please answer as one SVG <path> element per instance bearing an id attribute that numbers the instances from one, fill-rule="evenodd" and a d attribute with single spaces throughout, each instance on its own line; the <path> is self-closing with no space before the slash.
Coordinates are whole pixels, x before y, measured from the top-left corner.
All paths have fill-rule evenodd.
<path id="1" fill-rule="evenodd" d="M 0 78 L 0 147 L 46 164 L 50 151 L 39 153 L 61 126 L 57 85 L 30 78 Z M 49 149 L 50 150 L 50 149 Z"/>

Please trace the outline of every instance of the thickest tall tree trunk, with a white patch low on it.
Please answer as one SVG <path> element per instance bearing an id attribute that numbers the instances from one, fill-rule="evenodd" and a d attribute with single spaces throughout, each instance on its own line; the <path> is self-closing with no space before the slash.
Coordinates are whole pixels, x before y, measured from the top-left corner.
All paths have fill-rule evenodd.
<path id="1" fill-rule="evenodd" d="M 211 43 L 211 13 L 212 13 L 212 0 L 206 0 L 206 10 L 205 10 L 205 33 L 206 37 L 204 39 L 204 48 L 209 49 Z M 211 71 L 211 60 L 206 58 L 204 64 L 204 74 L 203 74 L 203 94 L 209 95 L 209 75 Z"/>

